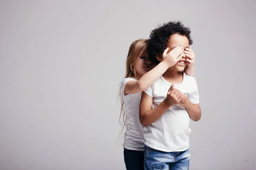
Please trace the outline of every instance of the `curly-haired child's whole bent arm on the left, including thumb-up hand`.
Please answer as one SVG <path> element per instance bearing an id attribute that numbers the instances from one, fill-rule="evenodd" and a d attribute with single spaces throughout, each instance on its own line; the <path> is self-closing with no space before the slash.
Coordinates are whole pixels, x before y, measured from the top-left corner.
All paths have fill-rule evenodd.
<path id="1" fill-rule="evenodd" d="M 166 99 L 152 109 L 153 98 L 143 91 L 140 100 L 139 116 L 141 125 L 148 126 L 157 121 L 172 105 L 177 105 L 181 101 L 181 96 L 182 93 L 175 89 L 172 84 L 167 92 Z"/>

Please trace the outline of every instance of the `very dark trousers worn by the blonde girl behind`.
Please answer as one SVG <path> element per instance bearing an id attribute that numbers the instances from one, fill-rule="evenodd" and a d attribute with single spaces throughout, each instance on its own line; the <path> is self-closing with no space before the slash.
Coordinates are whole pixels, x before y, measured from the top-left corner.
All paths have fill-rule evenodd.
<path id="1" fill-rule="evenodd" d="M 126 170 L 144 170 L 144 152 L 124 148 Z"/>

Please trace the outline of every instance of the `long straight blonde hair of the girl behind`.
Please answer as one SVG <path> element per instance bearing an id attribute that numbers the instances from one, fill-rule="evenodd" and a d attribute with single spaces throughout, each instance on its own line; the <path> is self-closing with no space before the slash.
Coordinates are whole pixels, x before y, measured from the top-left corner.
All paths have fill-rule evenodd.
<path id="1" fill-rule="evenodd" d="M 143 55 L 143 53 L 146 51 L 148 43 L 147 39 L 139 39 L 131 43 L 127 59 L 126 59 L 126 70 L 125 70 L 125 78 L 132 77 L 134 79 L 137 79 L 136 75 L 136 64 L 137 61 L 140 59 L 140 57 Z M 120 111 L 120 116 L 119 116 L 119 123 L 122 125 L 122 122 L 120 122 L 121 117 L 123 121 L 123 127 L 120 132 L 124 130 L 125 127 L 125 122 L 127 119 L 127 115 L 125 115 L 125 109 L 124 109 L 124 102 L 122 99 L 122 91 L 121 91 L 121 83 L 119 85 L 119 97 L 120 97 L 120 103 L 121 103 L 121 111 Z M 119 136 L 120 136 L 119 134 Z"/>

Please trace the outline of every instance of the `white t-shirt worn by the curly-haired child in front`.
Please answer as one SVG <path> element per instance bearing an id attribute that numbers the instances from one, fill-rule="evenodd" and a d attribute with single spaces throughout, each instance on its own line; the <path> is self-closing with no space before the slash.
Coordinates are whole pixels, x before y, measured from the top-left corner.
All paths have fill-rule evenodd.
<path id="1" fill-rule="evenodd" d="M 153 98 L 153 106 L 159 105 L 167 95 L 172 83 L 161 76 L 145 90 Z M 183 81 L 174 88 L 185 94 L 193 104 L 199 103 L 198 87 L 194 77 L 183 73 Z M 184 151 L 189 148 L 190 118 L 180 105 L 171 106 L 156 122 L 143 127 L 143 142 L 148 147 L 164 152 Z"/>

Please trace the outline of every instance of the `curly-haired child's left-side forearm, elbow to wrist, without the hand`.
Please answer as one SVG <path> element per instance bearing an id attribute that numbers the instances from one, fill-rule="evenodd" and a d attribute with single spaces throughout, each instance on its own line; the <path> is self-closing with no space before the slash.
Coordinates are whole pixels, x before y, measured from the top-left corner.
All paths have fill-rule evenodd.
<path id="1" fill-rule="evenodd" d="M 164 99 L 163 102 L 161 102 L 157 107 L 148 110 L 143 114 L 142 119 L 140 119 L 141 125 L 151 125 L 152 123 L 157 121 L 170 107 L 171 105 L 169 105 L 166 102 L 166 99 Z"/>

